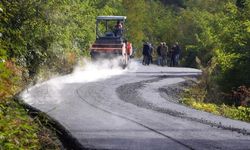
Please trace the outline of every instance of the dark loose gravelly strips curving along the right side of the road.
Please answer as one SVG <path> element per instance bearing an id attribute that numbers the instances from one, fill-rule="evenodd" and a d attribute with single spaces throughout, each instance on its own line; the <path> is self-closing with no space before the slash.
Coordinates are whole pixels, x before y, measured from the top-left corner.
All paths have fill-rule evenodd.
<path id="1" fill-rule="evenodd" d="M 221 128 L 224 130 L 238 132 L 238 133 L 241 133 L 243 135 L 250 135 L 250 131 L 248 131 L 246 129 L 241 129 L 241 128 L 232 127 L 232 126 L 226 126 L 226 125 L 223 125 L 221 122 L 214 122 L 214 121 L 207 120 L 205 118 L 196 118 L 196 117 L 192 117 L 192 116 L 190 117 L 187 114 L 183 114 L 183 113 L 178 112 L 176 110 L 171 110 L 171 109 L 159 107 L 153 103 L 150 103 L 148 101 L 143 100 L 140 97 L 140 95 L 138 94 L 138 90 L 143 89 L 145 87 L 145 84 L 157 82 L 157 81 L 163 80 L 163 79 L 164 79 L 164 77 L 156 77 L 155 79 L 124 84 L 124 85 L 118 87 L 116 89 L 116 92 L 117 92 L 119 98 L 121 100 L 123 100 L 124 102 L 131 103 L 131 104 L 136 105 L 136 106 L 141 107 L 141 108 L 151 109 L 153 111 L 165 113 L 165 114 L 171 115 L 173 117 L 179 117 L 179 118 L 186 119 L 189 121 L 199 122 L 202 124 L 209 125 L 211 127 L 217 127 L 217 128 Z M 158 92 L 165 100 L 173 102 L 173 103 L 178 103 L 179 105 L 183 105 L 180 103 L 180 96 L 177 96 L 177 95 L 182 93 L 185 88 L 188 88 L 193 84 L 196 84 L 195 80 L 193 78 L 187 77 L 187 78 L 185 78 L 184 82 L 160 87 L 158 89 Z M 186 107 L 188 107 L 188 106 L 186 106 Z M 188 108 L 193 109 L 191 107 L 188 107 Z M 193 109 L 193 110 L 195 110 L 195 109 Z M 199 110 L 197 110 L 197 111 L 199 111 Z M 201 111 L 201 112 L 203 112 L 203 111 Z M 207 113 L 207 112 L 205 112 L 205 113 Z"/>

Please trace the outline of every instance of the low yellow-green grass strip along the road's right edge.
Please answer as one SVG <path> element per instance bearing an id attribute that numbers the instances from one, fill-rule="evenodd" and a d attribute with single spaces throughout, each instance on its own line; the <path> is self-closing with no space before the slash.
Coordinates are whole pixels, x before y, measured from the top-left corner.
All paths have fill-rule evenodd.
<path id="1" fill-rule="evenodd" d="M 197 93 L 197 89 L 191 88 L 185 91 L 181 102 L 194 109 L 206 111 L 209 113 L 213 113 L 215 115 L 221 115 L 235 120 L 250 122 L 249 107 L 243 107 L 243 106 L 235 107 L 235 106 L 228 106 L 225 104 L 219 105 L 214 103 L 204 103 L 200 99 L 201 96 L 197 95 L 194 96 L 192 95 L 192 93 Z"/>

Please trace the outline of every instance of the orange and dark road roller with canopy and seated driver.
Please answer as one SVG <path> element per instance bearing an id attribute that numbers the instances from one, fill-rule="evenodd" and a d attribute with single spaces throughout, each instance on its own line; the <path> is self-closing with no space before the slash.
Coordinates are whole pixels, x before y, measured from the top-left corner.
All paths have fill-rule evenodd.
<path id="1" fill-rule="evenodd" d="M 118 58 L 123 68 L 128 65 L 132 45 L 125 39 L 125 20 L 126 16 L 96 18 L 96 41 L 90 48 L 92 60 Z"/>

